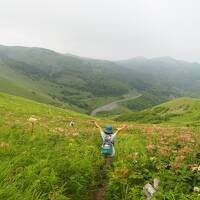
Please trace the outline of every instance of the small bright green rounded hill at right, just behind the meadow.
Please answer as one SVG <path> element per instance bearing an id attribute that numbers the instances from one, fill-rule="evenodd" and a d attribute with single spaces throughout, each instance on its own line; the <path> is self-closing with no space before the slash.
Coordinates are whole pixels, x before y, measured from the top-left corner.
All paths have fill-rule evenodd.
<path id="1" fill-rule="evenodd" d="M 138 123 L 166 123 L 174 125 L 200 125 L 200 100 L 179 98 L 140 112 L 119 116 L 116 120 Z"/>

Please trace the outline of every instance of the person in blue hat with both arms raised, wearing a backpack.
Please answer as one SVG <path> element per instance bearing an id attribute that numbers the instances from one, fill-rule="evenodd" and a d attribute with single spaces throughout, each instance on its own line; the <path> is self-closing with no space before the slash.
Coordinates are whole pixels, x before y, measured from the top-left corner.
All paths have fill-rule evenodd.
<path id="1" fill-rule="evenodd" d="M 101 154 L 105 157 L 113 158 L 115 155 L 114 141 L 116 135 L 119 131 L 123 130 L 127 126 L 124 125 L 120 128 L 117 128 L 117 130 L 113 132 L 112 125 L 107 125 L 104 129 L 102 129 L 96 121 L 94 121 L 94 124 L 97 128 L 99 128 L 103 140 Z"/>

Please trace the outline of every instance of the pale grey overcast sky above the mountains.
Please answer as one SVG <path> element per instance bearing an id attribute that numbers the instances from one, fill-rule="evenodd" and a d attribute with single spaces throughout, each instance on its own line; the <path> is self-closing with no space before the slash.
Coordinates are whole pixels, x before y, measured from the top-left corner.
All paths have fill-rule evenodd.
<path id="1" fill-rule="evenodd" d="M 0 44 L 200 61 L 200 1 L 0 0 Z"/>

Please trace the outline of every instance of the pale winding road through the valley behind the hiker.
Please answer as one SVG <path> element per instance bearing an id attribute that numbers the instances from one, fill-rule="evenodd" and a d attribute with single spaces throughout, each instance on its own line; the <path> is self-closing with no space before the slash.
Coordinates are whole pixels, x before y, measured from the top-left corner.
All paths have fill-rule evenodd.
<path id="1" fill-rule="evenodd" d="M 127 97 L 127 98 L 124 98 L 124 99 L 113 101 L 111 103 L 108 103 L 106 105 L 103 105 L 103 106 L 100 106 L 100 107 L 96 108 L 95 110 L 93 110 L 91 112 L 90 115 L 95 116 L 97 113 L 102 112 L 102 111 L 111 111 L 111 110 L 117 108 L 119 106 L 118 105 L 119 103 L 122 103 L 122 102 L 125 102 L 125 101 L 129 101 L 129 100 L 132 100 L 132 99 L 136 99 L 136 98 L 138 98 L 140 96 L 141 95 L 137 95 L 137 96 Z"/>

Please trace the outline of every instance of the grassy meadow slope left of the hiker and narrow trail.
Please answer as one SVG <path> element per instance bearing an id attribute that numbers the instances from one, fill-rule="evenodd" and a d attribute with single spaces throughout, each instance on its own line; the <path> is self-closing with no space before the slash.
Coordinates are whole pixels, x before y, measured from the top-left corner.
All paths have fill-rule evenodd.
<path id="1" fill-rule="evenodd" d="M 87 117 L 5 94 L 0 113 L 0 199 L 92 198 L 101 157 Z M 80 129 L 65 135 L 72 118 Z"/>

